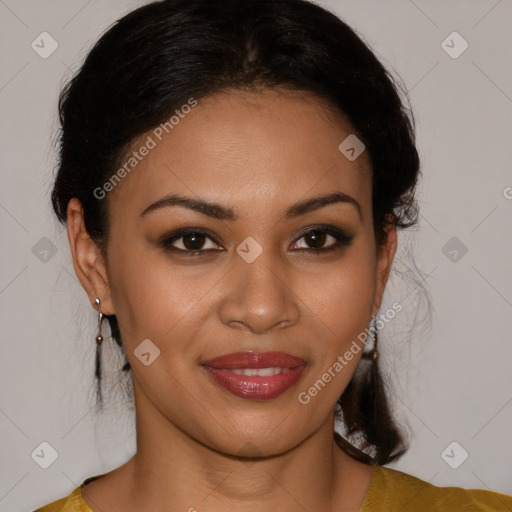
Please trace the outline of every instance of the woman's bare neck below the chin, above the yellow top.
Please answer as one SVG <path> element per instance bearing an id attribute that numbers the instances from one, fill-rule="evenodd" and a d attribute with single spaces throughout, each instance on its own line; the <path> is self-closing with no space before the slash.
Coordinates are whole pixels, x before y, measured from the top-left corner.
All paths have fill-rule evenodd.
<path id="1" fill-rule="evenodd" d="M 297 446 L 272 456 L 221 453 L 180 430 L 147 401 L 137 403 L 137 453 L 130 461 L 130 510 L 331 512 L 358 510 L 361 466 L 333 437 L 334 412 Z M 252 446 L 252 450 L 251 450 Z M 368 472 L 365 473 L 368 475 Z"/>

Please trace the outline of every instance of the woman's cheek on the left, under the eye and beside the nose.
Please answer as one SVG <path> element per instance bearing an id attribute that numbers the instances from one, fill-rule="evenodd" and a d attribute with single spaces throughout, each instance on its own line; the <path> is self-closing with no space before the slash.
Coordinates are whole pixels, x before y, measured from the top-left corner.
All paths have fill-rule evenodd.
<path id="1" fill-rule="evenodd" d="M 190 339 L 205 323 L 208 291 L 219 276 L 180 268 L 145 248 L 113 251 L 112 261 L 112 295 L 125 347 L 133 353 L 148 338 L 162 355 L 169 348 L 174 354 L 191 350 Z"/>

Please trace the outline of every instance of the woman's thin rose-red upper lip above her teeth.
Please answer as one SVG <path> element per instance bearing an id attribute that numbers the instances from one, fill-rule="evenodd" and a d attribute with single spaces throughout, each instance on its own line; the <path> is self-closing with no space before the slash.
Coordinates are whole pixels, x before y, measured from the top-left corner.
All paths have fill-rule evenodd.
<path id="1" fill-rule="evenodd" d="M 306 364 L 306 361 L 285 352 L 235 352 L 214 357 L 202 364 L 211 368 L 229 370 L 234 368 L 296 368 Z"/>

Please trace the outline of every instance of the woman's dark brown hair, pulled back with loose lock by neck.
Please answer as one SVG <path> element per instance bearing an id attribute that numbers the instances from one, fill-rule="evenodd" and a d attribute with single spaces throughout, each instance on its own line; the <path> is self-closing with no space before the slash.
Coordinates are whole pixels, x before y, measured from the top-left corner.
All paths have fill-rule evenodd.
<path id="1" fill-rule="evenodd" d="M 365 144 L 377 244 L 385 241 L 387 224 L 417 223 L 420 170 L 412 113 L 355 31 L 305 0 L 164 0 L 109 28 L 61 92 L 59 168 L 51 196 L 58 219 L 66 221 L 69 200 L 78 198 L 88 233 L 105 250 L 108 200 L 93 192 L 138 137 L 191 97 L 276 86 L 322 98 Z M 107 318 L 123 351 L 117 319 Z M 122 370 L 129 369 L 126 360 Z M 384 464 L 405 451 L 377 362 L 360 362 L 339 405 L 354 441 L 335 437 L 353 457 Z"/>

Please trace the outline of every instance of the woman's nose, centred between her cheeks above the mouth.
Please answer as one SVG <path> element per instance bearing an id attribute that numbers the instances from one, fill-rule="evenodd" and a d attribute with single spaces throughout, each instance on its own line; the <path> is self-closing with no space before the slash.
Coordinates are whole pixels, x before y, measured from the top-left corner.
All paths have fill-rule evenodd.
<path id="1" fill-rule="evenodd" d="M 230 272 L 220 306 L 224 324 L 263 334 L 295 325 L 300 316 L 293 277 L 270 251 L 252 263 L 239 258 Z"/>

